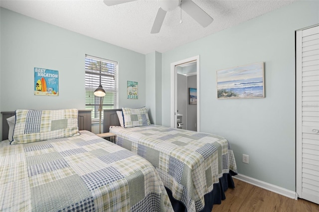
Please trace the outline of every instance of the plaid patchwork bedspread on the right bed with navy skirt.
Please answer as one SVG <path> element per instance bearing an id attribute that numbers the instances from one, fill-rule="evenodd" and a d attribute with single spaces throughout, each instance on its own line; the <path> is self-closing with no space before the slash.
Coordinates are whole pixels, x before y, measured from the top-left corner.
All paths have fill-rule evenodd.
<path id="1" fill-rule="evenodd" d="M 230 143 L 221 136 L 159 125 L 116 126 L 110 132 L 117 134 L 118 145 L 156 167 L 164 186 L 189 212 L 204 208 L 204 195 L 223 173 L 237 173 Z"/>

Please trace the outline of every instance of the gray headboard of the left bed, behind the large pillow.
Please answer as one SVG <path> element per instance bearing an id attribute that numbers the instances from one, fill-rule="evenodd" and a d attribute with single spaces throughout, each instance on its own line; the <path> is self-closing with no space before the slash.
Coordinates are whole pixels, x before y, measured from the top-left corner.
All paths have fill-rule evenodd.
<path id="1" fill-rule="evenodd" d="M 88 130 L 92 131 L 92 118 L 91 118 L 91 110 L 84 109 L 79 110 L 78 112 L 78 124 L 79 130 Z M 15 115 L 15 112 L 1 112 L 2 114 L 2 140 L 8 139 L 9 125 L 6 121 L 8 117 Z"/>

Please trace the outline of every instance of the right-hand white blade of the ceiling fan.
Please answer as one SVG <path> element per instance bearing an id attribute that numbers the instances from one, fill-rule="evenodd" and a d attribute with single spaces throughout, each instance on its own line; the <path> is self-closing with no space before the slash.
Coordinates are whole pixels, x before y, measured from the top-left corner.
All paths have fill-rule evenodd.
<path id="1" fill-rule="evenodd" d="M 181 8 L 203 27 L 208 26 L 214 20 L 191 0 L 183 0 Z"/>

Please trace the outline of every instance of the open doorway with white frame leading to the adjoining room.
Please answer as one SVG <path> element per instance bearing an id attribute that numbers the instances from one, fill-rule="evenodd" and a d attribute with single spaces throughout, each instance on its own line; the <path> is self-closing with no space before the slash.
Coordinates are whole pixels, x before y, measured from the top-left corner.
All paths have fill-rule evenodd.
<path id="1" fill-rule="evenodd" d="M 170 125 L 174 128 L 200 131 L 199 56 L 171 63 L 170 70 Z"/>

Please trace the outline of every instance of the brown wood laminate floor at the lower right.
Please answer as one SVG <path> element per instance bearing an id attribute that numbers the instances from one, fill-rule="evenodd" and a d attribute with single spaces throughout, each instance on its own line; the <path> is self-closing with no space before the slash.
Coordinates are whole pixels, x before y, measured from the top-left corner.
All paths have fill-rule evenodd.
<path id="1" fill-rule="evenodd" d="M 235 189 L 225 192 L 226 200 L 214 205 L 212 212 L 319 212 L 319 205 L 253 186 L 235 178 Z"/>

